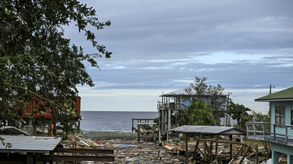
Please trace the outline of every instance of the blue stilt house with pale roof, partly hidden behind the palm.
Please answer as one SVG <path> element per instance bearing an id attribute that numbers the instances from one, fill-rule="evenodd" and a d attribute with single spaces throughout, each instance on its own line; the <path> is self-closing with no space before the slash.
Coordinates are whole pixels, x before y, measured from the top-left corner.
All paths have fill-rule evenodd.
<path id="1" fill-rule="evenodd" d="M 162 102 L 158 101 L 157 109 L 161 112 L 162 124 L 159 125 L 161 130 L 170 130 L 178 127 L 176 113 L 181 113 L 186 110 L 192 100 L 196 99 L 196 91 L 186 88 L 176 90 L 167 94 L 162 94 Z M 221 94 L 221 98 L 226 98 L 228 94 Z M 203 100 L 208 101 L 208 95 L 205 95 Z M 226 110 L 226 103 L 223 104 L 222 110 Z M 217 119 L 217 118 L 216 118 Z"/>

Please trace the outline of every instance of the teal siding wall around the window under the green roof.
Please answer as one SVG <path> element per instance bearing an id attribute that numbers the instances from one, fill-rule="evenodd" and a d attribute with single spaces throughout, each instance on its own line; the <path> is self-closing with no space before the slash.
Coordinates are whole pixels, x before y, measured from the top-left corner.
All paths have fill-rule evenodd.
<path id="1" fill-rule="evenodd" d="M 285 106 L 285 125 L 291 125 L 291 106 L 293 106 L 293 101 L 276 101 L 272 102 L 272 124 L 275 124 L 275 106 Z M 271 126 L 271 131 L 273 132 L 273 126 Z M 277 128 L 276 127 L 276 133 L 285 134 L 285 128 Z M 293 129 L 288 129 L 288 135 L 293 136 Z M 283 137 L 284 136 L 278 136 L 277 137 Z M 290 139 L 293 139 L 290 137 Z"/>

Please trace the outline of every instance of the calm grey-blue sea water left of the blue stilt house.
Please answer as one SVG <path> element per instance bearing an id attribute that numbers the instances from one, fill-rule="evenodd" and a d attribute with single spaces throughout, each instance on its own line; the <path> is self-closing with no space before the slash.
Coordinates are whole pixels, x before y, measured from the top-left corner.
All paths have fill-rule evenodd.
<path id="1" fill-rule="evenodd" d="M 131 118 L 157 118 L 158 112 L 80 111 L 84 131 L 131 132 Z M 134 126 L 137 121 L 134 121 Z"/>

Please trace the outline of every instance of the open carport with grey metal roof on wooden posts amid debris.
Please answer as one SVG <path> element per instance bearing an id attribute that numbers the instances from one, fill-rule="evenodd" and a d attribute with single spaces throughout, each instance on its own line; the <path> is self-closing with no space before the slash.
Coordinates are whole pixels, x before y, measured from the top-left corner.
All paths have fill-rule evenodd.
<path id="1" fill-rule="evenodd" d="M 188 163 L 188 134 L 201 134 L 203 135 L 203 139 L 205 136 L 209 135 L 228 135 L 230 140 L 232 141 L 232 135 L 246 135 L 246 131 L 238 129 L 236 127 L 229 126 L 192 126 L 192 125 L 184 125 L 172 129 L 175 133 L 183 133 L 186 134 L 185 137 L 185 150 L 186 150 L 186 163 Z M 232 159 L 232 143 L 230 144 L 230 159 Z"/>

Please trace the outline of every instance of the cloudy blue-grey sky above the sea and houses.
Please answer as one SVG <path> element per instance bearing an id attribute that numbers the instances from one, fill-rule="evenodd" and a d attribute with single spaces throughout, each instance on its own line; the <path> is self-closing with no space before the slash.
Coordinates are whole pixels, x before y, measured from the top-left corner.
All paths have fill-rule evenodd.
<path id="1" fill-rule="evenodd" d="M 195 76 L 221 84 L 234 103 L 267 111 L 254 99 L 293 86 L 293 1 L 82 0 L 102 30 L 88 29 L 112 52 L 87 67 L 94 87 L 78 86 L 81 110 L 157 111 L 159 95 Z M 74 24 L 65 38 L 97 50 Z M 87 63 L 85 63 L 87 64 Z"/>

